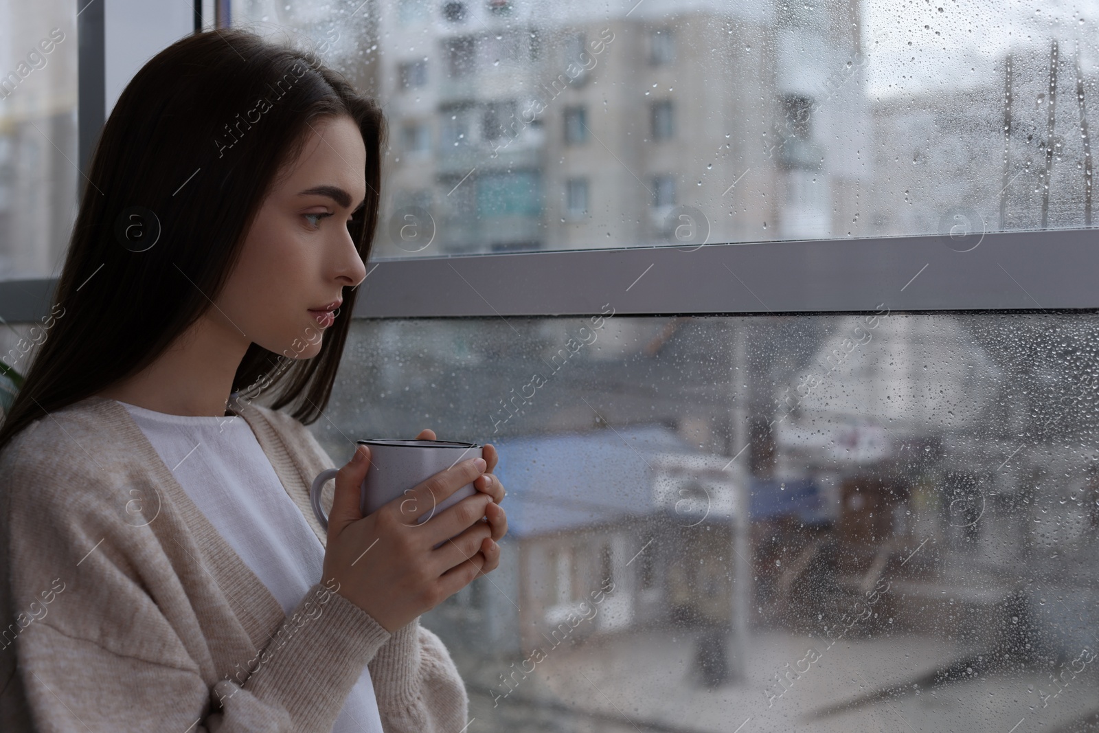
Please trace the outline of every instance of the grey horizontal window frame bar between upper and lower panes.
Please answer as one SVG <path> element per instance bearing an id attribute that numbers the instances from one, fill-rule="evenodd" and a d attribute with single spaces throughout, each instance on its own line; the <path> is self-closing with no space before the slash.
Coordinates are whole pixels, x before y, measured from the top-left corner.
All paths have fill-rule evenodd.
<path id="1" fill-rule="evenodd" d="M 1099 308 L 1099 232 L 380 259 L 367 273 L 355 318 L 1079 310 Z M 0 316 L 45 316 L 55 285 L 0 281 Z"/>

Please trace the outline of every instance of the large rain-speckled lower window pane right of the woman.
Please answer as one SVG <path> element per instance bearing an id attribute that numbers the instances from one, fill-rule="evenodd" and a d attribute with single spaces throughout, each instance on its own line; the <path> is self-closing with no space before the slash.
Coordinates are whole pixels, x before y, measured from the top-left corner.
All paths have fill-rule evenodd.
<path id="1" fill-rule="evenodd" d="M 474 725 L 1095 728 L 1096 314 L 613 311 L 356 321 L 311 426 L 498 448 Z"/>

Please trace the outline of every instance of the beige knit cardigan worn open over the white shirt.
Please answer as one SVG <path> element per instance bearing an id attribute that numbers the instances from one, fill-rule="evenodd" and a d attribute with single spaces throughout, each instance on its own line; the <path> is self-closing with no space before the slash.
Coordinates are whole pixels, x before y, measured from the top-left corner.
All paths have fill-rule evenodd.
<path id="1" fill-rule="evenodd" d="M 308 490 L 334 463 L 295 418 L 237 411 L 323 544 Z M 419 618 L 390 634 L 320 579 L 287 615 L 114 400 L 0 452 L 0 553 L 2 731 L 331 731 L 364 666 L 387 733 L 467 725 Z"/>

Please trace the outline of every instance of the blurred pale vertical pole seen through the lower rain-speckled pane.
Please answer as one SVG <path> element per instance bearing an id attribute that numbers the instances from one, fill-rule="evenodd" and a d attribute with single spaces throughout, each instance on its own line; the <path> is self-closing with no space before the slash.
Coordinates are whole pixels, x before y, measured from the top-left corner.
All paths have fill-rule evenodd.
<path id="1" fill-rule="evenodd" d="M 747 679 L 748 613 L 752 599 L 751 542 L 748 542 L 750 487 L 745 470 L 748 453 L 746 319 L 742 316 L 733 336 L 733 456 L 729 467 L 733 476 L 733 658 L 730 676 L 736 681 Z"/>

